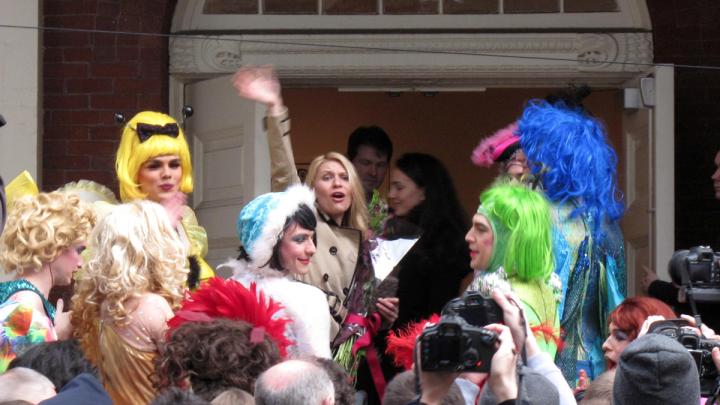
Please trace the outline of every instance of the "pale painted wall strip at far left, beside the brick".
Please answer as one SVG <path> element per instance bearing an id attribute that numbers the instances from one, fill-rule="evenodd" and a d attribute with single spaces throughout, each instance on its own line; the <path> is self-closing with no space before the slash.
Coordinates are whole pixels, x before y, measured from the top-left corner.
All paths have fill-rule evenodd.
<path id="1" fill-rule="evenodd" d="M 0 25 L 36 27 L 39 0 L 0 0 Z M 0 175 L 5 182 L 28 170 L 41 173 L 40 33 L 34 29 L 0 27 Z"/>

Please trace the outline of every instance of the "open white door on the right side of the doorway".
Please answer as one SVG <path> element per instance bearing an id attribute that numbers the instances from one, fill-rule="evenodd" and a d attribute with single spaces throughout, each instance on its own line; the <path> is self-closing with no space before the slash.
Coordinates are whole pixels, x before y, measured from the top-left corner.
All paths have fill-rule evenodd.
<path id="1" fill-rule="evenodd" d="M 674 69 L 657 66 L 624 87 L 622 228 L 628 296 L 634 296 L 640 292 L 642 266 L 669 278 L 675 246 Z"/>

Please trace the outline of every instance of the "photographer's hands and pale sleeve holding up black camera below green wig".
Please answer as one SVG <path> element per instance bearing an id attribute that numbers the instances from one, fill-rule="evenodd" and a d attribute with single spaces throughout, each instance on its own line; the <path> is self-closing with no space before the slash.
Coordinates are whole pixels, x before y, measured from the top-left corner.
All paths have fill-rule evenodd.
<path id="1" fill-rule="evenodd" d="M 524 318 L 520 300 L 514 294 L 505 294 L 499 290 L 493 291 L 492 295 L 493 298 L 490 299 L 477 292 L 469 292 L 450 301 L 443 308 L 441 321 L 435 325 L 438 326 L 445 320 L 446 326 L 426 328 L 423 335 L 430 333 L 434 336 L 432 339 L 424 341 L 422 336 L 418 338 L 417 360 L 419 363 L 422 357 L 422 365 L 416 371 L 420 371 L 423 381 L 423 402 L 431 403 L 425 401 L 428 398 L 425 390 L 430 388 L 427 384 L 432 385 L 440 380 L 450 381 L 451 377 L 459 375 L 455 370 L 478 371 L 482 368 L 483 371 L 489 371 L 486 385 L 489 389 L 484 390 L 481 395 L 486 395 L 495 403 L 522 396 L 523 390 L 520 387 L 528 387 L 523 381 L 534 381 L 539 384 L 535 387 L 542 386 L 539 392 L 548 398 L 554 395 L 560 403 L 574 403 L 572 391 L 562 373 L 552 363 L 550 356 L 541 352 Z M 455 339 L 455 336 L 461 338 Z M 448 344 L 453 340 L 466 343 Z M 424 344 L 430 345 L 430 349 L 423 347 Z M 438 344 L 443 345 L 443 348 L 438 347 Z M 523 361 L 518 359 L 522 350 L 525 350 L 523 355 L 526 355 L 527 359 L 534 359 L 534 367 L 542 370 L 541 372 L 527 367 L 527 364 L 524 364 L 527 362 L 525 358 Z M 476 358 L 479 358 L 480 362 L 466 368 L 471 363 L 466 360 L 477 354 L 479 356 Z M 720 360 L 720 353 L 718 356 Z M 446 368 L 427 371 L 427 361 L 431 365 L 433 362 L 437 364 L 441 358 L 447 360 Z M 434 379 L 427 378 L 430 374 L 436 374 Z M 423 375 L 426 377 L 423 378 Z M 474 377 L 478 375 L 474 374 Z M 527 395 L 527 392 L 525 394 Z"/>

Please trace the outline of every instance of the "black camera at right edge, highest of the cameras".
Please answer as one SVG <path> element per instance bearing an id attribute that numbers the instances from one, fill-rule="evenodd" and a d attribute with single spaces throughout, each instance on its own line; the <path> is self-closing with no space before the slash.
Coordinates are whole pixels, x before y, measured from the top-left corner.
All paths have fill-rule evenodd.
<path id="1" fill-rule="evenodd" d="M 676 251 L 668 272 L 675 284 L 690 288 L 695 302 L 720 302 L 720 253 L 711 247 Z"/>

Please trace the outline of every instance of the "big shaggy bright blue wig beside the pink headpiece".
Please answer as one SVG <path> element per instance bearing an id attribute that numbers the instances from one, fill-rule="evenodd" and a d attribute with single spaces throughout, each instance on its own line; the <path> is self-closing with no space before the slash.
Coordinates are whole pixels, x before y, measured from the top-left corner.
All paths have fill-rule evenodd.
<path id="1" fill-rule="evenodd" d="M 575 202 L 571 216 L 589 216 L 595 237 L 604 221 L 622 217 L 617 155 L 600 120 L 560 102 L 531 100 L 518 127 L 532 172 L 551 201 Z"/>

